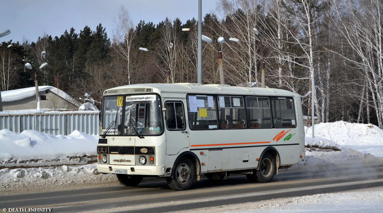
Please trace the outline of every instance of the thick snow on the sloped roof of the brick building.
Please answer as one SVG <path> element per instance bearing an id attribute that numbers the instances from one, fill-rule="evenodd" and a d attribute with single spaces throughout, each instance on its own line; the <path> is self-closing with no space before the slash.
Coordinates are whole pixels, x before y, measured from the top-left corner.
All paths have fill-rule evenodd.
<path id="1" fill-rule="evenodd" d="M 70 96 L 69 94 L 65 93 L 61 89 L 58 89 L 54 86 L 39 86 L 38 89 L 39 89 L 39 92 L 43 92 L 49 89 L 49 91 L 51 91 L 52 93 L 71 102 L 72 104 L 75 104 L 76 106 L 81 105 L 78 101 L 72 98 L 72 96 Z M 35 96 L 35 95 L 36 95 L 36 87 L 13 89 L 13 90 L 1 92 L 2 102 L 18 101 L 31 96 Z"/>

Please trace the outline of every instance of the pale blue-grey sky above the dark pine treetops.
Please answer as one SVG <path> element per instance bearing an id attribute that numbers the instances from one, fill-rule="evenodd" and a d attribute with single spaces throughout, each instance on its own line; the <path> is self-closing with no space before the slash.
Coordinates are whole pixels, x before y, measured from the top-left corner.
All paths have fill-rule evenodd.
<path id="1" fill-rule="evenodd" d="M 217 1 L 202 0 L 202 18 L 215 11 Z M 44 34 L 60 37 L 72 27 L 75 33 L 85 26 L 94 31 L 100 23 L 110 38 L 120 5 L 134 25 L 141 20 L 158 24 L 166 18 L 198 20 L 198 0 L 0 0 L 0 33 L 11 31 L 0 42 L 36 42 Z"/>

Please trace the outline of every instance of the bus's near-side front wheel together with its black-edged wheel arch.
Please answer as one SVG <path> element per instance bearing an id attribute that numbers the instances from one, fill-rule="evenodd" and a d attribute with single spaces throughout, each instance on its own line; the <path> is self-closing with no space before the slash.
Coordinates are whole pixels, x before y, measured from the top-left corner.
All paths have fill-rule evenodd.
<path id="1" fill-rule="evenodd" d="M 172 169 L 172 175 L 167 177 L 167 183 L 170 188 L 182 191 L 191 187 L 196 174 L 199 174 L 199 161 L 198 158 L 190 153 L 183 153 L 175 161 Z"/>

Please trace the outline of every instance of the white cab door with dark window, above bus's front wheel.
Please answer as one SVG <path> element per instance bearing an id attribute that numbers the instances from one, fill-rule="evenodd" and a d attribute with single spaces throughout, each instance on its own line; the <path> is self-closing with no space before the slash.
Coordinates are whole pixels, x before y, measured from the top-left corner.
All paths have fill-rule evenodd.
<path id="1" fill-rule="evenodd" d="M 185 108 L 182 99 L 165 99 L 166 154 L 177 154 L 189 147 L 189 133 L 185 122 Z"/>

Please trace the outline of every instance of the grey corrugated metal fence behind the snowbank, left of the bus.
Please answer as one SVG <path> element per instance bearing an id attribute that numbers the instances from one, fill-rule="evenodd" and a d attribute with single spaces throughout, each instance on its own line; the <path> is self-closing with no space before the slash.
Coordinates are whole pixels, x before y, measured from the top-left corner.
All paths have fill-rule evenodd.
<path id="1" fill-rule="evenodd" d="M 98 112 L 52 112 L 31 114 L 0 114 L 0 130 L 21 133 L 36 130 L 52 135 L 68 135 L 74 130 L 98 135 L 100 132 Z"/>

